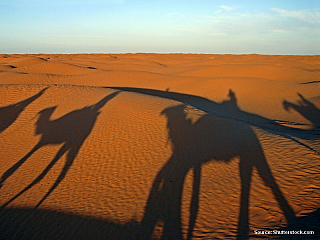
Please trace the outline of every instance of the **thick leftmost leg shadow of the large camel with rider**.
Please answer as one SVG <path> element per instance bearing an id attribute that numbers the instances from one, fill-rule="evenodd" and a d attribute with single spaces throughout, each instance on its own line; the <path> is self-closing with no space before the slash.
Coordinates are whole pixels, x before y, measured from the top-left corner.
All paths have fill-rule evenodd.
<path id="1" fill-rule="evenodd" d="M 181 198 L 188 168 L 176 165 L 175 154 L 157 174 L 141 222 L 146 239 L 153 233 L 159 219 L 164 223 L 162 239 L 183 239 L 181 231 Z"/>

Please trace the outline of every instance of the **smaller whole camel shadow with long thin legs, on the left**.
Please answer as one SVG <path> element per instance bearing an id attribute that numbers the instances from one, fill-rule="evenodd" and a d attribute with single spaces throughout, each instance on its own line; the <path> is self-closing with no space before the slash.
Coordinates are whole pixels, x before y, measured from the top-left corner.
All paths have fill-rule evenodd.
<path id="1" fill-rule="evenodd" d="M 75 110 L 67 113 L 66 115 L 51 120 L 50 117 L 56 107 L 47 108 L 39 112 L 39 118 L 36 122 L 36 134 L 40 134 L 41 138 L 39 142 L 30 150 L 23 158 L 21 158 L 16 164 L 9 168 L 1 177 L 0 184 L 2 185 L 8 177 L 10 177 L 34 152 L 43 146 L 49 144 L 62 144 L 62 147 L 58 150 L 56 156 L 49 163 L 49 165 L 42 171 L 42 173 L 27 187 L 25 187 L 20 193 L 6 202 L 4 206 L 7 206 L 13 200 L 18 198 L 28 189 L 33 187 L 39 181 L 41 181 L 49 170 L 55 165 L 55 163 L 66 153 L 66 162 L 52 187 L 37 204 L 36 208 L 50 195 L 50 193 L 60 184 L 64 179 L 70 167 L 73 164 L 82 144 L 91 133 L 94 124 L 99 115 L 99 110 L 112 98 L 114 98 L 118 92 L 114 92 L 98 103 L 84 107 L 79 110 Z M 1 186 L 0 185 L 0 186 Z"/>

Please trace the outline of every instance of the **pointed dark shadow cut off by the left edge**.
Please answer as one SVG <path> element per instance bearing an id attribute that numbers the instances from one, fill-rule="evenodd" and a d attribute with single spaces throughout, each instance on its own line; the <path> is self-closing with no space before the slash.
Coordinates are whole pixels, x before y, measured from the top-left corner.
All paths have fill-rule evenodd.
<path id="1" fill-rule="evenodd" d="M 36 95 L 16 104 L 0 108 L 0 133 L 6 130 L 19 117 L 20 113 L 33 101 L 39 98 L 48 88 L 41 90 Z"/>

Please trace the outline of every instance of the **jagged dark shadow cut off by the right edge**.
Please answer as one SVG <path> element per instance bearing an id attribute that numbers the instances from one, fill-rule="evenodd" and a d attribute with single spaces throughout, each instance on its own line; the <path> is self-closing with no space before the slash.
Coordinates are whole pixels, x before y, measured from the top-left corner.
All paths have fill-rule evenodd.
<path id="1" fill-rule="evenodd" d="M 283 107 L 289 111 L 290 108 L 296 110 L 300 113 L 305 119 L 310 121 L 314 127 L 320 127 L 320 109 L 317 108 L 312 102 L 305 99 L 300 93 L 298 93 L 300 100 L 298 104 L 283 101 Z"/>

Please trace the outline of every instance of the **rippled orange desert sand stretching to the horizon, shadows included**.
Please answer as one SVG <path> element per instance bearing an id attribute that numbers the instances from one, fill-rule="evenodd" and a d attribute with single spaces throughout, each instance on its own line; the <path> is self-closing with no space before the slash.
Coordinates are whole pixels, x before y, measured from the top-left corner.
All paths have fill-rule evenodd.
<path id="1" fill-rule="evenodd" d="M 320 56 L 2 54 L 0 184 L 3 239 L 319 239 Z"/>

